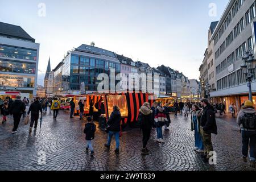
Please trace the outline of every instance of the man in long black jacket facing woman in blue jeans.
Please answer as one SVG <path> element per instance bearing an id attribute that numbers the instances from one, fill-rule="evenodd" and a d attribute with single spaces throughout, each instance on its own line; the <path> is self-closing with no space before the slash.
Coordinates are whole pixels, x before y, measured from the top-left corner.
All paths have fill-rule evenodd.
<path id="1" fill-rule="evenodd" d="M 212 146 L 212 134 L 218 134 L 217 132 L 217 125 L 216 125 L 216 119 L 215 119 L 215 113 L 212 105 L 210 105 L 209 101 L 204 98 L 201 101 L 201 106 L 203 106 L 203 113 L 201 115 L 200 119 L 200 129 L 201 129 L 201 135 L 203 136 L 203 143 L 204 143 L 204 149 L 205 154 L 203 156 L 204 162 L 209 161 L 209 152 L 213 151 Z"/>

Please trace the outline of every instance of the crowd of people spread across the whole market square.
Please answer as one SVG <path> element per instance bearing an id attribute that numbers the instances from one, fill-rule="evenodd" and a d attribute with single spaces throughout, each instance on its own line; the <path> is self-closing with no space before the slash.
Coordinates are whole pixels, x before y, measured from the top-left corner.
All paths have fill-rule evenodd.
<path id="1" fill-rule="evenodd" d="M 31 103 L 31 104 L 30 104 Z M 14 126 L 12 133 L 17 132 L 19 122 L 21 117 L 27 118 L 31 114 L 30 128 L 32 131 L 34 127 L 35 131 L 38 126 L 39 115 L 41 117 L 43 114 L 47 113 L 47 107 L 49 112 L 53 110 L 53 119 L 57 118 L 57 114 L 60 109 L 60 101 L 58 98 L 44 99 L 36 97 L 31 102 L 28 98 L 24 97 L 21 100 L 20 96 L 16 96 L 16 99 L 7 97 L 5 100 L 0 100 L 1 115 L 3 116 L 3 125 L 7 122 L 7 115 L 13 117 Z M 75 110 L 75 102 L 72 99 L 70 102 L 71 114 L 70 117 L 73 118 L 73 113 Z M 79 101 L 80 119 L 84 117 L 84 107 L 85 102 Z M 96 131 L 96 125 L 93 123 L 94 117 L 94 107 L 97 107 L 98 114 L 104 113 L 104 102 L 102 100 L 98 101 L 96 104 L 93 100 L 90 101 L 89 106 L 89 117 L 86 118 L 86 125 L 84 128 L 84 133 L 86 135 L 86 151 L 90 150 L 90 156 L 94 155 L 93 142 L 94 134 Z M 212 134 L 217 135 L 217 124 L 215 119 L 216 109 L 220 110 L 221 113 L 225 114 L 225 105 L 210 104 L 207 99 L 202 99 L 200 102 L 196 103 L 174 103 L 175 116 L 177 116 L 177 111 L 180 114 L 184 114 L 185 117 L 191 116 L 191 130 L 195 133 L 195 148 L 194 150 L 200 154 L 204 162 L 209 162 L 211 157 L 210 152 L 213 151 L 212 144 Z M 151 137 L 152 129 L 156 129 L 157 143 L 166 143 L 163 137 L 163 127 L 164 130 L 170 131 L 168 128 L 171 125 L 171 109 L 170 104 L 163 104 L 162 102 L 154 102 L 152 106 L 148 102 L 145 102 L 139 109 L 138 123 L 142 130 L 142 155 L 149 155 L 150 150 L 147 148 L 148 140 Z M 234 117 L 234 113 L 237 113 L 236 105 L 231 104 L 229 106 L 229 111 Z M 27 116 L 26 116 L 27 114 Z M 251 101 L 246 101 L 242 104 L 241 110 L 237 114 L 237 123 L 241 128 L 242 135 L 242 160 L 247 162 L 248 151 L 250 153 L 250 167 L 255 167 L 256 158 L 256 111 L 253 107 Z M 119 154 L 119 137 L 121 136 L 121 112 L 118 106 L 113 106 L 113 111 L 110 114 L 108 123 L 106 124 L 105 131 L 108 133 L 108 139 L 105 143 L 105 147 L 110 150 L 110 145 L 112 138 L 115 138 L 115 154 Z"/>

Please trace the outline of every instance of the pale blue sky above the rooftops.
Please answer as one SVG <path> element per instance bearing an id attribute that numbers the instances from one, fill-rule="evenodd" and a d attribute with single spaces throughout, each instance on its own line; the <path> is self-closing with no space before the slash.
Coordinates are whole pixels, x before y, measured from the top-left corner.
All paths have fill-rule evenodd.
<path id="1" fill-rule="evenodd" d="M 46 4 L 46 17 L 38 4 Z M 217 16 L 210 17 L 209 4 Z M 0 0 L 0 22 L 21 26 L 40 43 L 39 84 L 48 57 L 52 69 L 82 43 L 138 59 L 165 64 L 199 78 L 210 22 L 220 19 L 228 0 Z"/>

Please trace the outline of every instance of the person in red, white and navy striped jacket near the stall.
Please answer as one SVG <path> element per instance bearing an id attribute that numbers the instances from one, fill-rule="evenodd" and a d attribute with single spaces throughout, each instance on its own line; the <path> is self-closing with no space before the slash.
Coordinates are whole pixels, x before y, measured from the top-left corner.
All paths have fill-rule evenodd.
<path id="1" fill-rule="evenodd" d="M 166 122 L 168 122 L 168 120 L 166 118 L 166 114 L 164 114 L 164 107 L 162 103 L 160 103 L 155 110 L 155 125 L 156 125 L 156 133 L 157 133 L 156 142 L 165 143 L 163 140 L 162 127 Z"/>

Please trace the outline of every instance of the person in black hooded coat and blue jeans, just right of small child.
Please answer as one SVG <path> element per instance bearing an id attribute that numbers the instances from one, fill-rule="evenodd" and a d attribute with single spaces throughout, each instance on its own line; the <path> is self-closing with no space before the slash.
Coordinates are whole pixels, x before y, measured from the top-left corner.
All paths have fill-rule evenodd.
<path id="1" fill-rule="evenodd" d="M 121 113 L 118 106 L 113 107 L 113 112 L 111 113 L 108 123 L 108 143 L 105 143 L 105 147 L 110 149 L 110 144 L 113 135 L 115 136 L 115 154 L 119 154 L 119 133 L 121 130 Z"/>

